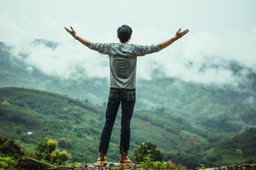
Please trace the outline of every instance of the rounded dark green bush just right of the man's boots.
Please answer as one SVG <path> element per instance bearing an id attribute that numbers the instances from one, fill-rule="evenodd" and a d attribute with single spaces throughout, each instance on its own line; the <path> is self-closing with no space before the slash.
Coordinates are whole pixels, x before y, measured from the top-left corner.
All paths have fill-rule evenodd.
<path id="1" fill-rule="evenodd" d="M 156 150 L 156 145 L 152 144 L 150 141 L 145 141 L 144 143 L 140 144 L 140 147 L 134 150 L 135 155 L 135 162 L 143 162 L 144 158 L 148 155 L 148 150 L 151 150 L 152 159 L 154 161 L 162 161 L 163 160 L 163 154 Z"/>

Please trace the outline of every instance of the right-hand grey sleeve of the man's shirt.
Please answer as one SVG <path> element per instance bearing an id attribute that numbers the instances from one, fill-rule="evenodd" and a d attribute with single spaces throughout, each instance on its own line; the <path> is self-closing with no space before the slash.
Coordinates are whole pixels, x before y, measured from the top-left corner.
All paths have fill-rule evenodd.
<path id="1" fill-rule="evenodd" d="M 143 56 L 149 53 L 159 52 L 160 50 L 160 45 L 134 45 L 134 48 L 132 49 L 134 55 L 136 56 Z"/>

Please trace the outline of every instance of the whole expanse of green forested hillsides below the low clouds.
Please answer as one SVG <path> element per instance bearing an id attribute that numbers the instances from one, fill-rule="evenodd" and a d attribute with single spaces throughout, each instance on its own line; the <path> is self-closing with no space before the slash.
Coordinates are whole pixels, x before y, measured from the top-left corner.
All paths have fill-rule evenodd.
<path id="1" fill-rule="evenodd" d="M 51 48 L 58 45 L 40 39 L 34 43 L 46 43 Z M 12 48 L 0 42 L 0 87 L 5 87 L 0 89 L 0 136 L 17 140 L 28 154 L 34 154 L 39 141 L 51 138 L 72 142 L 72 147 L 62 146 L 73 153 L 70 162 L 81 161 L 86 153 L 88 162 L 95 162 L 104 125 L 108 80 L 86 76 L 63 79 L 44 74 L 24 62 L 26 53 L 20 54 L 21 58 L 13 57 Z M 254 91 L 155 78 L 138 80 L 136 95 L 131 158 L 140 143 L 151 141 L 164 154 L 164 160 L 186 166 L 239 162 L 236 149 L 244 150 L 246 158 L 255 159 L 246 148 L 254 147 L 253 139 L 248 137 L 248 145 L 244 145 L 237 141 L 242 137 L 236 136 L 256 126 Z M 108 161 L 119 159 L 120 115 L 111 136 Z M 247 139 L 248 132 L 255 134 L 251 129 L 243 138 Z"/>

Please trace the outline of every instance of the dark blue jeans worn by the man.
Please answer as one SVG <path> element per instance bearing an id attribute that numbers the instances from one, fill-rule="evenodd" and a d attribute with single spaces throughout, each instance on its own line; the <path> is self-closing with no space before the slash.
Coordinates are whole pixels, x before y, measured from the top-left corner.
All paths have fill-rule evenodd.
<path id="1" fill-rule="evenodd" d="M 107 155 L 109 141 L 113 125 L 115 124 L 116 113 L 122 106 L 120 152 L 128 155 L 131 138 L 130 122 L 135 105 L 135 89 L 110 89 L 108 97 L 108 107 L 106 110 L 106 122 L 100 138 L 99 154 Z"/>

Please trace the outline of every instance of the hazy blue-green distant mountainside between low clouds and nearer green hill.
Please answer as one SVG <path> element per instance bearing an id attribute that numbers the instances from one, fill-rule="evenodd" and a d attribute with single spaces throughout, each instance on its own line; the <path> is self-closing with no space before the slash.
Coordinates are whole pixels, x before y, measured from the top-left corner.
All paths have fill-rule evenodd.
<path id="1" fill-rule="evenodd" d="M 58 43 L 45 39 L 35 39 L 33 43 L 43 43 L 52 49 L 58 46 Z M 0 87 L 46 90 L 90 101 L 99 106 L 106 105 L 109 92 L 107 79 L 84 77 L 77 80 L 47 75 L 26 64 L 23 58 L 13 57 L 12 48 L 0 42 Z M 24 54 L 21 56 L 26 58 Z M 232 64 L 232 69 L 237 72 L 239 67 Z M 177 78 L 138 79 L 136 95 L 138 100 L 135 110 L 167 110 L 191 122 L 200 120 L 205 124 L 208 124 L 209 120 L 224 117 L 236 122 L 243 129 L 248 128 L 248 120 L 244 122 L 244 118 L 256 110 L 253 104 L 255 92 L 239 92 L 228 87 L 186 83 Z"/>

